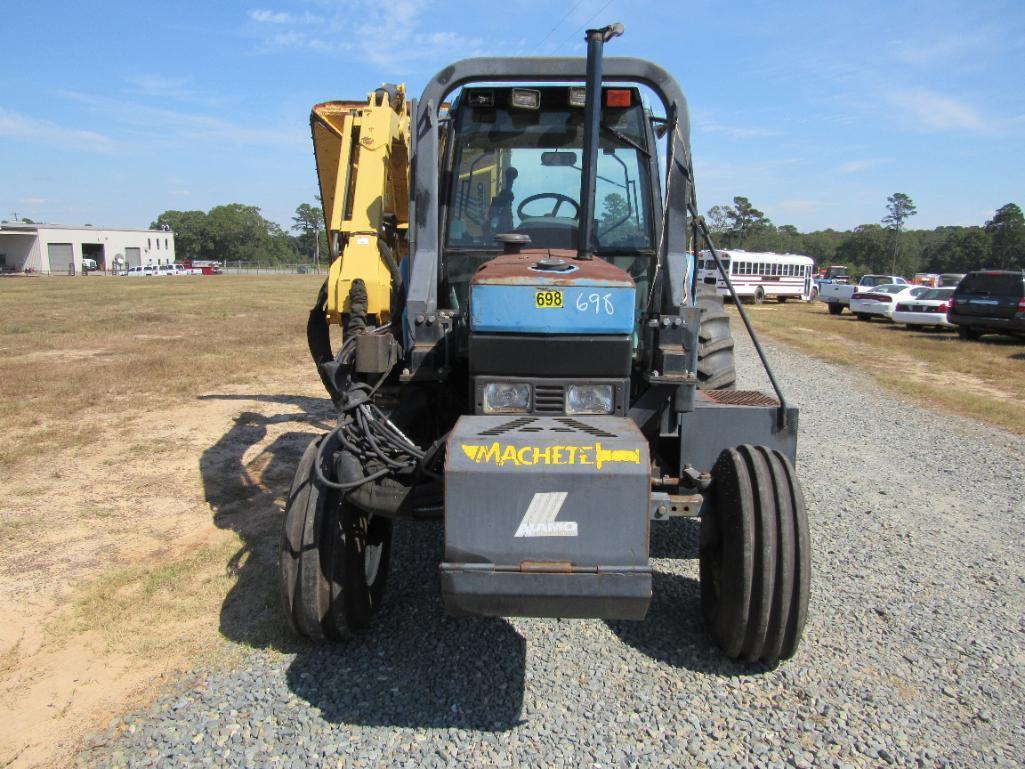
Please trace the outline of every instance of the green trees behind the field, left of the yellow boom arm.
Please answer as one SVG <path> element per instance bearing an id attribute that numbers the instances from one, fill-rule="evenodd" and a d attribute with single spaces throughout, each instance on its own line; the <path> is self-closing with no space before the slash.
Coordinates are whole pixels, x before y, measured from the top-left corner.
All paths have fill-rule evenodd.
<path id="1" fill-rule="evenodd" d="M 150 228 L 172 231 L 175 255 L 182 260 L 314 264 L 327 250 L 323 214 L 310 203 L 295 209 L 291 232 L 264 218 L 258 207 L 242 203 L 209 211 L 164 211 Z"/>

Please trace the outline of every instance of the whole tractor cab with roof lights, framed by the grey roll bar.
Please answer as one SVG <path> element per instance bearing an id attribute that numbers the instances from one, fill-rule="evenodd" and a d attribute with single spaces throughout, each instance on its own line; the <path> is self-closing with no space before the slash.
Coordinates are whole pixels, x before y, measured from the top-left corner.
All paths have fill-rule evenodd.
<path id="1" fill-rule="evenodd" d="M 654 133 L 637 87 L 602 90 L 592 243 L 642 292 L 655 269 Z M 441 299 L 466 308 L 475 273 L 504 250 L 575 254 L 585 89 L 467 87 L 449 112 L 441 193 Z M 515 235 L 516 238 L 505 236 Z"/>

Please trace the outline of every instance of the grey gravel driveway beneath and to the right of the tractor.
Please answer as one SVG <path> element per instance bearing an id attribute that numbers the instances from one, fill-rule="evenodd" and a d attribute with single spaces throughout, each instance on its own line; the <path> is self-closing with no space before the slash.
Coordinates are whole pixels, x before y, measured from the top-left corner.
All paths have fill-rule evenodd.
<path id="1" fill-rule="evenodd" d="M 697 523 L 654 525 L 643 622 L 446 617 L 442 531 L 397 528 L 376 629 L 256 651 L 96 735 L 96 766 L 1025 765 L 1025 441 L 768 347 L 802 407 L 812 603 L 795 658 L 705 636 Z M 764 387 L 748 345 L 743 387 Z"/>

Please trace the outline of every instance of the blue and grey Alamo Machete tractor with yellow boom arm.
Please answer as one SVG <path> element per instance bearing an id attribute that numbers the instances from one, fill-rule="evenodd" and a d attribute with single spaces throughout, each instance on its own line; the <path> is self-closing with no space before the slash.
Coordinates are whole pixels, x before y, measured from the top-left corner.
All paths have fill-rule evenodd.
<path id="1" fill-rule="evenodd" d="M 660 67 L 604 57 L 620 34 L 588 30 L 586 57 L 459 60 L 418 100 L 383 85 L 314 108 L 331 261 L 308 342 L 337 421 L 286 503 L 297 634 L 371 628 L 398 519 L 444 519 L 452 614 L 642 619 L 652 523 L 697 517 L 713 641 L 795 653 L 797 409 L 739 301 L 773 394 L 736 389 L 695 269 L 704 250 L 729 284 L 687 104 Z"/>

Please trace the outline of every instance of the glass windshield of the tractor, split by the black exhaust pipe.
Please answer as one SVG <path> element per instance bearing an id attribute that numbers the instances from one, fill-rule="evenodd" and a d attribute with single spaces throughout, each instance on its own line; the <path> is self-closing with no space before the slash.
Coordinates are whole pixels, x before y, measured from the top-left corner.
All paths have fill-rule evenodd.
<path id="1" fill-rule="evenodd" d="M 540 109 L 511 107 L 512 89 L 464 91 L 455 109 L 446 241 L 449 249 L 499 249 L 496 235 L 530 236 L 534 248 L 576 248 L 583 109 L 569 88 L 531 89 Z M 644 112 L 605 109 L 594 234 L 598 252 L 653 248 Z"/>

